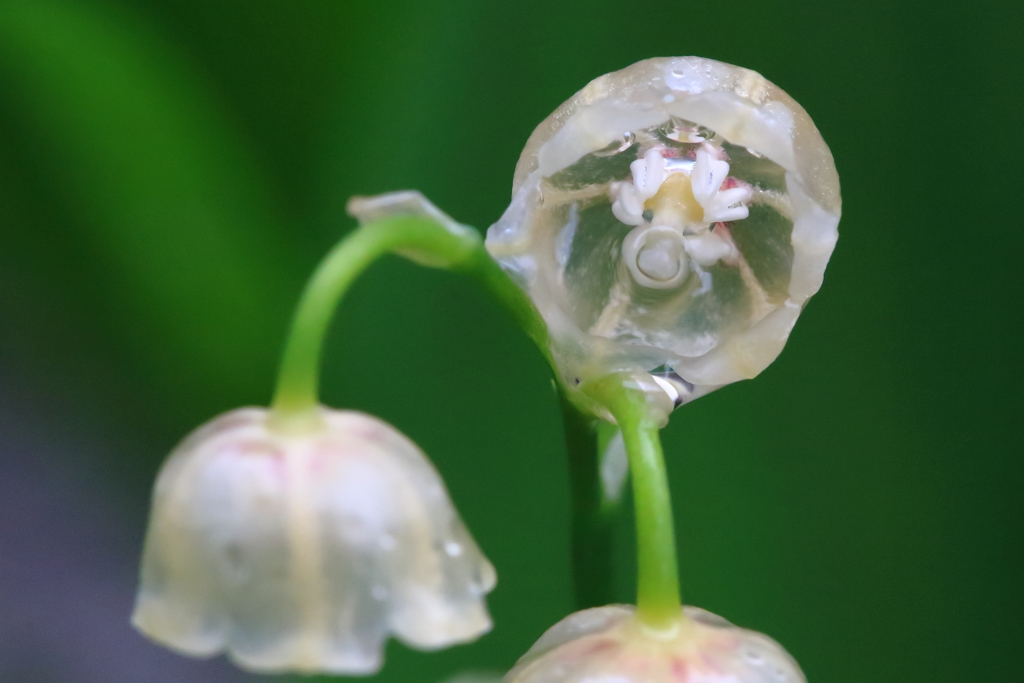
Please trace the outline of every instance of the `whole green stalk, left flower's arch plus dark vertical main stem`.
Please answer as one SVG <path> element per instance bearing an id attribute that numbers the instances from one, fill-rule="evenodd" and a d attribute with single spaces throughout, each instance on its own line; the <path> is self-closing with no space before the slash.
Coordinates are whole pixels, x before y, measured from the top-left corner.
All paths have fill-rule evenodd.
<path id="1" fill-rule="evenodd" d="M 422 216 L 395 216 L 367 223 L 342 239 L 309 279 L 278 376 L 272 410 L 279 428 L 305 430 L 318 424 L 321 356 L 334 311 L 355 279 L 389 253 L 461 271 L 478 282 L 512 313 L 558 377 L 547 326 L 529 297 L 487 253 L 478 233 L 452 230 Z M 559 398 L 572 486 L 572 571 L 577 603 L 583 609 L 612 601 L 614 506 L 608 505 L 601 486 L 598 423 L 585 416 L 560 385 Z"/>

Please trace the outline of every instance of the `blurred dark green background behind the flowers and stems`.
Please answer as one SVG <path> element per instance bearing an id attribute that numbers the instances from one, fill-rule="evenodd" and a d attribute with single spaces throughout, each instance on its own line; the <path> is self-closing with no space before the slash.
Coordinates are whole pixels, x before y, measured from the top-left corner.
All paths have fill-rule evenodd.
<path id="1" fill-rule="evenodd" d="M 686 601 L 812 683 L 1024 680 L 1022 30 L 966 1 L 0 0 L 0 680 L 255 680 L 127 626 L 163 457 L 268 400 L 349 196 L 415 187 L 483 229 L 562 100 L 682 54 L 788 91 L 844 198 L 781 357 L 665 431 Z M 431 455 L 499 571 L 492 634 L 392 643 L 378 680 L 506 670 L 572 609 L 540 355 L 391 259 L 325 372 Z"/>

